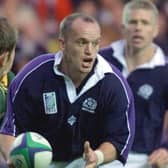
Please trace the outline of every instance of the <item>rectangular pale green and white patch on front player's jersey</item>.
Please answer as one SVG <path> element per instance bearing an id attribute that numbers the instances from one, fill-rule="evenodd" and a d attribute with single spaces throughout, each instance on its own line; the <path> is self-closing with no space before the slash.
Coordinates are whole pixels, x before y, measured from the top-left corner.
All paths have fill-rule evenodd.
<path id="1" fill-rule="evenodd" d="M 43 102 L 46 114 L 57 113 L 57 102 L 55 92 L 43 93 Z"/>

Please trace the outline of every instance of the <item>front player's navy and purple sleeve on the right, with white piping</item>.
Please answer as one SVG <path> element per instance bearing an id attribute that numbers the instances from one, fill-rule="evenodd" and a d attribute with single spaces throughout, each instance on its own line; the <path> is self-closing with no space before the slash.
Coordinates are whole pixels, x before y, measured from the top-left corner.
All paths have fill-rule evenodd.
<path id="1" fill-rule="evenodd" d="M 106 141 L 117 149 L 119 160 L 125 164 L 135 133 L 134 98 L 127 81 L 117 72 L 107 86 Z M 110 80 L 110 79 L 109 79 Z M 112 86 L 110 86 L 112 85 Z"/>

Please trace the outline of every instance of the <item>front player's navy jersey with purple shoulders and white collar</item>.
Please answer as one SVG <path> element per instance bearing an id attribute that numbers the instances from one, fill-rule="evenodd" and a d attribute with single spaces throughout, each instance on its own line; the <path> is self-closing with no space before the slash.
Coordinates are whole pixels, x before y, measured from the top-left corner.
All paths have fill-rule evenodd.
<path id="1" fill-rule="evenodd" d="M 86 140 L 93 149 L 107 141 L 125 163 L 134 137 L 134 103 L 126 80 L 98 55 L 77 94 L 71 79 L 58 70 L 62 56 L 61 51 L 39 56 L 17 74 L 0 132 L 42 134 L 53 147 L 55 161 L 82 156 Z"/>

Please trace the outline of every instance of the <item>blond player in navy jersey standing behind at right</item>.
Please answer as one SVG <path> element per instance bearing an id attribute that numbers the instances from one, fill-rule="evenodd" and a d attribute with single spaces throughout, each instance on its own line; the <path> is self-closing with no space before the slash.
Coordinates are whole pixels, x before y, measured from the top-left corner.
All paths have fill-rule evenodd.
<path id="1" fill-rule="evenodd" d="M 125 39 L 100 51 L 121 70 L 134 94 L 135 139 L 126 168 L 168 165 L 168 140 L 162 139 L 168 110 L 168 65 L 162 49 L 152 42 L 157 33 L 155 5 L 148 0 L 131 1 L 123 11 Z"/>

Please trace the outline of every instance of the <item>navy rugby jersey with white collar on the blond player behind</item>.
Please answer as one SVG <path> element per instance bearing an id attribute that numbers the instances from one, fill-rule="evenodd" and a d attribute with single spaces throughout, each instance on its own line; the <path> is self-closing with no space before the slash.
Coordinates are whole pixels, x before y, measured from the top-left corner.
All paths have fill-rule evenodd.
<path id="1" fill-rule="evenodd" d="M 124 46 L 125 41 L 119 40 L 100 54 L 120 69 L 133 91 L 136 124 L 132 150 L 150 154 L 159 147 L 168 147 L 167 142 L 162 142 L 163 119 L 168 109 L 168 65 L 162 50 L 155 45 L 153 59 L 129 73 Z"/>

